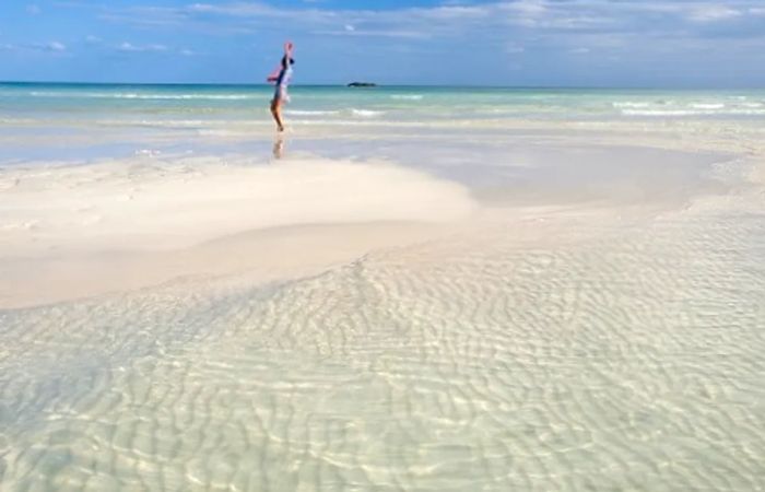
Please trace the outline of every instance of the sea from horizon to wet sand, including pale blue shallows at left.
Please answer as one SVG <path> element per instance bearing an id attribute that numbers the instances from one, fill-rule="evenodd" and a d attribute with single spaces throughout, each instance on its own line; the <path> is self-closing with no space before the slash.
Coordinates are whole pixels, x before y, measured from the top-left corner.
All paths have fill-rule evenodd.
<path id="1" fill-rule="evenodd" d="M 0 164 L 205 145 L 220 152 L 219 137 L 254 144 L 257 137 L 269 140 L 273 133 L 272 92 L 269 85 L 0 83 Z M 290 94 L 285 120 L 304 140 L 357 132 L 379 139 L 413 127 L 422 134 L 485 134 L 556 124 L 730 120 L 756 126 L 765 120 L 765 90 L 295 85 Z M 167 138 L 158 139 L 158 132 Z M 96 133 L 97 139 L 87 138 Z M 45 145 L 38 141 L 43 134 L 52 137 Z M 348 140 L 334 143 L 327 152 L 337 153 Z"/>

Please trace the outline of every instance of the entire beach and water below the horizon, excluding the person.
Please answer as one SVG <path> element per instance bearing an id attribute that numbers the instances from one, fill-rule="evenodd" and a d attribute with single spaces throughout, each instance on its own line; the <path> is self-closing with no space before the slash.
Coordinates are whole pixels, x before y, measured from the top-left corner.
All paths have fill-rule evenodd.
<path id="1" fill-rule="evenodd" d="M 765 92 L 0 84 L 0 489 L 763 490 Z"/>

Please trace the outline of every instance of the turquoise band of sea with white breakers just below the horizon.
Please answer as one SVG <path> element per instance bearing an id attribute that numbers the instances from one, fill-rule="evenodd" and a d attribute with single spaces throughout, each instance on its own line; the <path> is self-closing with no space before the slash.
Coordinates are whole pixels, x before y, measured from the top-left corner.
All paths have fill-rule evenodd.
<path id="1" fill-rule="evenodd" d="M 129 85 L 1 83 L 0 118 L 268 120 L 268 85 Z M 286 113 L 305 122 L 490 119 L 765 119 L 765 90 L 663 91 L 294 86 Z M 27 121 L 28 122 L 28 121 Z"/>

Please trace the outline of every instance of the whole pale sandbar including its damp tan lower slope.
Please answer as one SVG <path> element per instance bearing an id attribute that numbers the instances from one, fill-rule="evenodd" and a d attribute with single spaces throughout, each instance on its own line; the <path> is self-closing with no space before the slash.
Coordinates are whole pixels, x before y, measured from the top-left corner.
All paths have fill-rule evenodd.
<path id="1" fill-rule="evenodd" d="M 188 276 L 308 274 L 475 209 L 464 187 L 386 163 L 137 161 L 4 171 L 0 306 Z"/>

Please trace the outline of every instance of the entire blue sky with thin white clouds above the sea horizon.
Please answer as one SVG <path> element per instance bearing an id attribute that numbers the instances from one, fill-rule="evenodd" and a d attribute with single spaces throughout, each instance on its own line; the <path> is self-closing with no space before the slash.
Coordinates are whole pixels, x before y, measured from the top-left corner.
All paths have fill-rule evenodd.
<path id="1" fill-rule="evenodd" d="M 765 87 L 765 0 L 0 0 L 0 80 Z"/>

